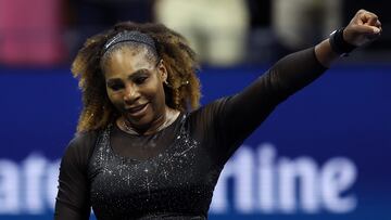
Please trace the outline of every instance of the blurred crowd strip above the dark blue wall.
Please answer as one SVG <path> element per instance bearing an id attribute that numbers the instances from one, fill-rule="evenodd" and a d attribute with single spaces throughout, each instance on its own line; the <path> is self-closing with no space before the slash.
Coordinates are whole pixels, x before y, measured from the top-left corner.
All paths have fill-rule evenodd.
<path id="1" fill-rule="evenodd" d="M 0 65 L 68 65 L 88 37 L 123 21 L 165 24 L 205 65 L 270 63 L 327 38 L 362 8 L 382 22 L 380 40 L 362 50 L 379 60 L 391 51 L 386 1 L 0 0 Z"/>

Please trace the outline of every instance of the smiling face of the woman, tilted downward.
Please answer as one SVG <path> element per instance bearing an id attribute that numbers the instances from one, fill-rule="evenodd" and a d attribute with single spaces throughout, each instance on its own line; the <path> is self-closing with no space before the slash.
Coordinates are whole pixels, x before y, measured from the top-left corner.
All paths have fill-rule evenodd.
<path id="1" fill-rule="evenodd" d="M 148 129 L 166 109 L 166 68 L 162 62 L 149 61 L 146 54 L 146 48 L 116 50 L 103 69 L 110 101 L 136 129 Z"/>

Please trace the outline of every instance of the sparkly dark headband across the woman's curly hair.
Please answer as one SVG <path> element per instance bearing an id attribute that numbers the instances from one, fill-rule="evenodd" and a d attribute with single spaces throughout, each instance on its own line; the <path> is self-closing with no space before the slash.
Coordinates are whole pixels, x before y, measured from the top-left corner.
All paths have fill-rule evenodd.
<path id="1" fill-rule="evenodd" d="M 105 53 L 113 46 L 127 41 L 143 43 L 151 47 L 154 51 L 156 51 L 155 43 L 150 36 L 136 30 L 131 30 L 131 31 L 125 30 L 118 33 L 116 36 L 108 40 L 108 42 L 104 44 L 103 53 Z"/>

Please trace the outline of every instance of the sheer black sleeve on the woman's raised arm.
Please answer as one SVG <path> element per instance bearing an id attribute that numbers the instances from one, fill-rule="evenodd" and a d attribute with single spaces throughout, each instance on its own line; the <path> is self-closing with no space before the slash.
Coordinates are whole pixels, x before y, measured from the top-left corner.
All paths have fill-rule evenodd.
<path id="1" fill-rule="evenodd" d="M 327 68 L 316 59 L 314 48 L 289 54 L 244 90 L 212 103 L 216 151 L 224 164 L 236 148 L 294 92 L 318 78 Z M 207 108 L 207 106 L 206 106 Z"/>

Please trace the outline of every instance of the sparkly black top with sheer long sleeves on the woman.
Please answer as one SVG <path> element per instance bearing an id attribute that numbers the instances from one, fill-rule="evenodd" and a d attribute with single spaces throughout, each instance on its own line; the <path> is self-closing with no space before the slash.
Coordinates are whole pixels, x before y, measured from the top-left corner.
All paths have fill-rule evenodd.
<path id="1" fill-rule="evenodd" d="M 326 70 L 314 49 L 286 56 L 238 94 L 136 135 L 116 125 L 80 133 L 60 168 L 55 219 L 206 219 L 229 157 L 276 105 Z"/>

